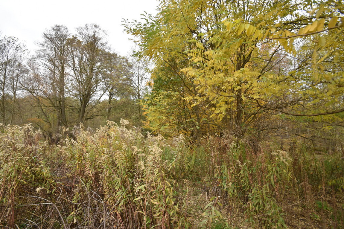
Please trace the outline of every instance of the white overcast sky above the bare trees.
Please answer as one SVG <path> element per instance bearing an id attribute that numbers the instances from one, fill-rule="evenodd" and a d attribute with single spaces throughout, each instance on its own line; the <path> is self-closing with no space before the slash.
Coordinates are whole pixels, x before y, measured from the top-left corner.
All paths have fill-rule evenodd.
<path id="1" fill-rule="evenodd" d="M 0 32 L 14 36 L 31 50 L 45 29 L 62 24 L 75 28 L 96 23 L 107 31 L 111 47 L 127 55 L 133 46 L 123 32 L 122 18 L 139 20 L 144 11 L 156 14 L 157 0 L 0 0 Z"/>

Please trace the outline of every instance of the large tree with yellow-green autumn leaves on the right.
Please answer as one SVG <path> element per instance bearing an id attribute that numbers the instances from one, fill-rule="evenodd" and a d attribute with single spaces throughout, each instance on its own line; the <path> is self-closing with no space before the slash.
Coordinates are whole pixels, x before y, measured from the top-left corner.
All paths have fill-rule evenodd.
<path id="1" fill-rule="evenodd" d="M 210 129 L 308 138 L 300 123 L 343 122 L 340 2 L 171 0 L 144 19 L 126 28 L 155 62 L 147 112 L 156 129 L 174 120 L 169 103 L 187 107 L 197 138 Z"/>

